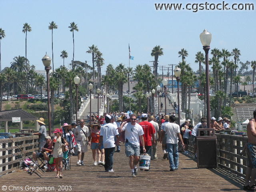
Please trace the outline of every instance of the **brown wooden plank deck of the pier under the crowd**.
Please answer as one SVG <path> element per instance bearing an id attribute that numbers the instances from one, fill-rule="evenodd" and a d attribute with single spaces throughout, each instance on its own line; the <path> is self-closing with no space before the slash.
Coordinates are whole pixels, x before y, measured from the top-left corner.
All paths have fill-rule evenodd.
<path id="1" fill-rule="evenodd" d="M 182 191 L 182 192 L 218 192 L 218 191 L 244 191 L 242 190 L 244 180 L 221 168 L 199 169 L 196 162 L 189 156 L 180 154 L 179 169 L 170 172 L 169 162 L 162 157 L 161 145 L 158 144 L 158 160 L 151 161 L 150 171 L 138 170 L 136 178 L 131 177 L 128 166 L 128 158 L 124 154 L 124 146 L 121 152 L 114 154 L 114 171 L 104 172 L 104 167 L 93 166 L 92 152 L 88 150 L 85 154 L 85 166 L 76 166 L 77 157 L 71 158 L 71 170 L 64 170 L 64 177 L 54 178 L 55 172 L 44 172 L 42 178 L 36 174 L 31 176 L 26 172 L 14 172 L 0 177 L 0 191 L 22 191 L 14 190 L 12 186 L 20 186 L 23 191 L 36 191 L 36 189 L 25 190 L 25 186 L 50 186 L 58 191 L 66 187 L 66 191 L 73 192 L 120 192 L 120 191 Z M 7 190 L 3 190 L 6 186 Z M 8 190 L 10 187 L 11 190 Z"/>

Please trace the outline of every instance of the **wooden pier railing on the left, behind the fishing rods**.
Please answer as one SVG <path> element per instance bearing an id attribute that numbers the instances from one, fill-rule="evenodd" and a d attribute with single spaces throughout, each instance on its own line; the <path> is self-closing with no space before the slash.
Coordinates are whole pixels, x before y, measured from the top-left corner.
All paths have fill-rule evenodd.
<path id="1" fill-rule="evenodd" d="M 24 152 L 32 156 L 38 150 L 38 136 L 25 136 L 0 139 L 0 176 L 20 167 L 20 160 L 26 159 Z M 5 148 L 7 148 L 7 150 Z M 22 149 L 24 152 L 22 152 Z M 14 157 L 13 154 L 17 157 Z M 19 160 L 20 159 L 20 160 Z"/>

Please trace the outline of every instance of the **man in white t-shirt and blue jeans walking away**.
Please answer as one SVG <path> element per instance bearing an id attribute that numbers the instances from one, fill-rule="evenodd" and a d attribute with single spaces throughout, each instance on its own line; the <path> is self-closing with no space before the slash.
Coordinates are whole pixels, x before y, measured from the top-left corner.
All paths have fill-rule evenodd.
<path id="1" fill-rule="evenodd" d="M 166 124 L 163 129 L 160 142 L 162 142 L 164 134 L 167 133 L 166 148 L 169 157 L 170 171 L 178 170 L 179 166 L 179 152 L 178 141 L 180 140 L 182 146 L 184 143 L 180 134 L 180 126 L 175 123 L 175 117 L 170 116 L 170 123 Z"/>

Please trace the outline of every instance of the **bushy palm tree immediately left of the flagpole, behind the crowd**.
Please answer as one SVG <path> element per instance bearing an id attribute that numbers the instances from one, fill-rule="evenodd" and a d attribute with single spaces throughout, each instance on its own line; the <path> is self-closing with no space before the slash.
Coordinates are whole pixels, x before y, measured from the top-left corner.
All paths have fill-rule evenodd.
<path id="1" fill-rule="evenodd" d="M 118 84 L 119 112 L 123 111 L 123 85 L 127 82 L 127 68 L 123 64 L 116 67 L 115 79 Z"/>

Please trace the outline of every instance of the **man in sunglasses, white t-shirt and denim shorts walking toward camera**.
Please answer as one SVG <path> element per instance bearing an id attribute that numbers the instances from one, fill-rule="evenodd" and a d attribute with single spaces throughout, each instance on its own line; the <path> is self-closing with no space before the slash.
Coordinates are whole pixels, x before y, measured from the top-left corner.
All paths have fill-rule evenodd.
<path id="1" fill-rule="evenodd" d="M 130 121 L 130 122 L 127 122 Z M 138 174 L 137 164 L 140 159 L 140 142 L 142 143 L 143 152 L 146 152 L 143 138 L 143 129 L 136 123 L 136 115 L 132 114 L 130 119 L 126 119 L 118 129 L 118 132 L 125 131 L 125 153 L 129 157 L 129 164 L 132 170 L 132 177 Z"/>

